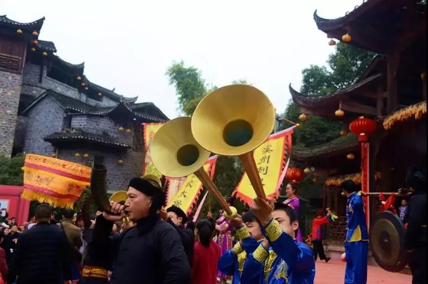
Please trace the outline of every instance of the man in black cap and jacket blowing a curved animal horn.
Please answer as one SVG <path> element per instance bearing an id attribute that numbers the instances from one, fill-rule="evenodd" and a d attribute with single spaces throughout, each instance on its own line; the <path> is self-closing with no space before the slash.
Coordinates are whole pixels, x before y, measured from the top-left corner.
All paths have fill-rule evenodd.
<path id="1" fill-rule="evenodd" d="M 159 218 L 165 194 L 149 178 L 129 182 L 125 205 L 110 202 L 111 212 L 97 217 L 97 226 L 113 226 L 125 216 L 137 225 L 112 241 L 114 268 L 110 284 L 187 284 L 190 265 L 177 231 Z M 104 220 L 103 220 L 104 219 Z M 105 222 L 108 221 L 108 222 Z M 89 272 L 90 273 L 90 272 Z"/>

